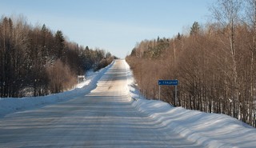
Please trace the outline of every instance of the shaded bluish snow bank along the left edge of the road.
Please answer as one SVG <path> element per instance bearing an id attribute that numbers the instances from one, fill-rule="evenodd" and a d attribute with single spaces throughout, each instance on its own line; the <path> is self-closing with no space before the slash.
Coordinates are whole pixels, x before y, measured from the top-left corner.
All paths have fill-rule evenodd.
<path id="1" fill-rule="evenodd" d="M 102 78 L 102 75 L 105 74 L 113 64 L 114 62 L 95 73 L 89 71 L 86 74 L 85 82 L 79 83 L 74 89 L 63 93 L 50 94 L 42 97 L 0 98 L 0 117 L 17 111 L 42 107 L 89 94 L 91 90 L 94 90 L 97 87 L 98 80 Z"/>

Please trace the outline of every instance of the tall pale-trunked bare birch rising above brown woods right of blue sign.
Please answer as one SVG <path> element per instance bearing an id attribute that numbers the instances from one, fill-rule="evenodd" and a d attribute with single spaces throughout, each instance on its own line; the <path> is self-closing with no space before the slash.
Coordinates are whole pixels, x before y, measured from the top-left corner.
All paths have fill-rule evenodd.
<path id="1" fill-rule="evenodd" d="M 229 48 L 230 56 L 232 58 L 232 94 L 234 94 L 231 99 L 233 102 L 232 116 L 240 117 L 240 107 L 242 106 L 239 102 L 239 92 L 238 92 L 238 70 L 237 70 L 237 51 L 236 51 L 236 41 L 235 41 L 235 27 L 238 22 L 239 14 L 241 12 L 242 1 L 240 0 L 218 0 L 215 6 L 213 6 L 212 11 L 214 18 L 222 25 L 223 29 L 227 31 L 227 37 L 229 38 Z M 237 111 L 238 110 L 238 111 Z"/>

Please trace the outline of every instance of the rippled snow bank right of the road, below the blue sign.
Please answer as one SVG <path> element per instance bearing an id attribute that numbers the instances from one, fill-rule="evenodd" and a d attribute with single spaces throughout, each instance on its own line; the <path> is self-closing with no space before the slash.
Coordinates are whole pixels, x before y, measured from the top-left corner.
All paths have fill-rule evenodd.
<path id="1" fill-rule="evenodd" d="M 134 84 L 130 66 L 125 62 L 132 106 L 172 132 L 204 147 L 255 147 L 256 129 L 225 114 L 206 114 L 173 107 L 166 102 L 146 100 Z M 134 100 L 134 101 L 133 101 Z"/>

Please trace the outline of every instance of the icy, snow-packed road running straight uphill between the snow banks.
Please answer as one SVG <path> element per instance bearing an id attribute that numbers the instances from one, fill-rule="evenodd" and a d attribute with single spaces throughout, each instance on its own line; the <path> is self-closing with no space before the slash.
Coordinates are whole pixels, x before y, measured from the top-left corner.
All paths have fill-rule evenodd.
<path id="1" fill-rule="evenodd" d="M 131 106 L 124 62 L 86 96 L 0 118 L 0 147 L 202 147 Z"/>

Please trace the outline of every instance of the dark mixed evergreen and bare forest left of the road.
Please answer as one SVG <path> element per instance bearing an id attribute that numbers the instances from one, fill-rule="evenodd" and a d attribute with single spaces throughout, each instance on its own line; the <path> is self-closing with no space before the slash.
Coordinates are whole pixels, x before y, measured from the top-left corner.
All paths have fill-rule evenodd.
<path id="1" fill-rule="evenodd" d="M 109 52 L 66 41 L 62 31 L 30 26 L 22 17 L 0 19 L 0 97 L 59 93 L 77 83 L 77 75 L 99 70 Z"/>

